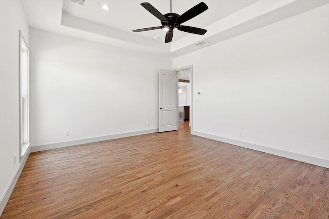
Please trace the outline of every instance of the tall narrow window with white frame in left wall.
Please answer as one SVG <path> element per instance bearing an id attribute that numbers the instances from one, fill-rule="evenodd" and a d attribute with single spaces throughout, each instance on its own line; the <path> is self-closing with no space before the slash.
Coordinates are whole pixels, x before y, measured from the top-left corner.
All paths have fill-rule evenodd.
<path id="1" fill-rule="evenodd" d="M 20 158 L 29 145 L 29 49 L 20 31 Z"/>

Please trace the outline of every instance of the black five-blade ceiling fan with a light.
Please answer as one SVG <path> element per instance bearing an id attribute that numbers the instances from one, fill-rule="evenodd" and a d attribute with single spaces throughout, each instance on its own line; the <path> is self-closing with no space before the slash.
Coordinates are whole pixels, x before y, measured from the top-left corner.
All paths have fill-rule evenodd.
<path id="1" fill-rule="evenodd" d="M 171 12 L 171 0 L 170 0 L 170 13 L 168 13 L 168 14 L 161 14 L 150 3 L 142 3 L 140 5 L 143 6 L 146 10 L 148 10 L 151 14 L 156 16 L 161 21 L 162 26 L 137 29 L 137 30 L 133 30 L 134 32 L 141 32 L 141 31 L 148 31 L 148 30 L 155 30 L 155 29 L 163 28 L 164 30 L 167 31 L 165 43 L 169 43 L 172 41 L 175 28 L 177 28 L 180 31 L 199 34 L 199 35 L 204 35 L 207 32 L 207 30 L 205 30 L 205 29 L 181 25 L 182 23 L 189 21 L 189 19 L 192 19 L 193 17 L 206 11 L 208 9 L 208 6 L 204 2 L 197 4 L 190 10 L 183 13 L 182 15 Z"/>

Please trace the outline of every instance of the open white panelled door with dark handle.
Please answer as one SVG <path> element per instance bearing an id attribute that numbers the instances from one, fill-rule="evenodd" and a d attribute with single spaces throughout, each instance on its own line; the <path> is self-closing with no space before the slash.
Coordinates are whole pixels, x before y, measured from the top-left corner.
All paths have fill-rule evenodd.
<path id="1" fill-rule="evenodd" d="M 178 130 L 177 71 L 159 70 L 159 132 Z"/>

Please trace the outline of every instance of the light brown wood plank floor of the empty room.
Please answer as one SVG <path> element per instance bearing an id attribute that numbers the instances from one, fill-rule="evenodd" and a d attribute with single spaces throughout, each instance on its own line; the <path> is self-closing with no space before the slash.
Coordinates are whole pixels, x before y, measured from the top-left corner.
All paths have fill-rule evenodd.
<path id="1" fill-rule="evenodd" d="M 329 169 L 189 132 L 31 153 L 1 218 L 329 218 Z"/>

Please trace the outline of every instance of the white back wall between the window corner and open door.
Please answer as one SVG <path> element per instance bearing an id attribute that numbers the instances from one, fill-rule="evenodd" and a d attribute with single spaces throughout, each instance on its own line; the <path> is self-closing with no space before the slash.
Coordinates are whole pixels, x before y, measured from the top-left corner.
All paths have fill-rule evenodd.
<path id="1" fill-rule="evenodd" d="M 159 68 L 172 59 L 30 29 L 31 145 L 158 128 Z"/>

